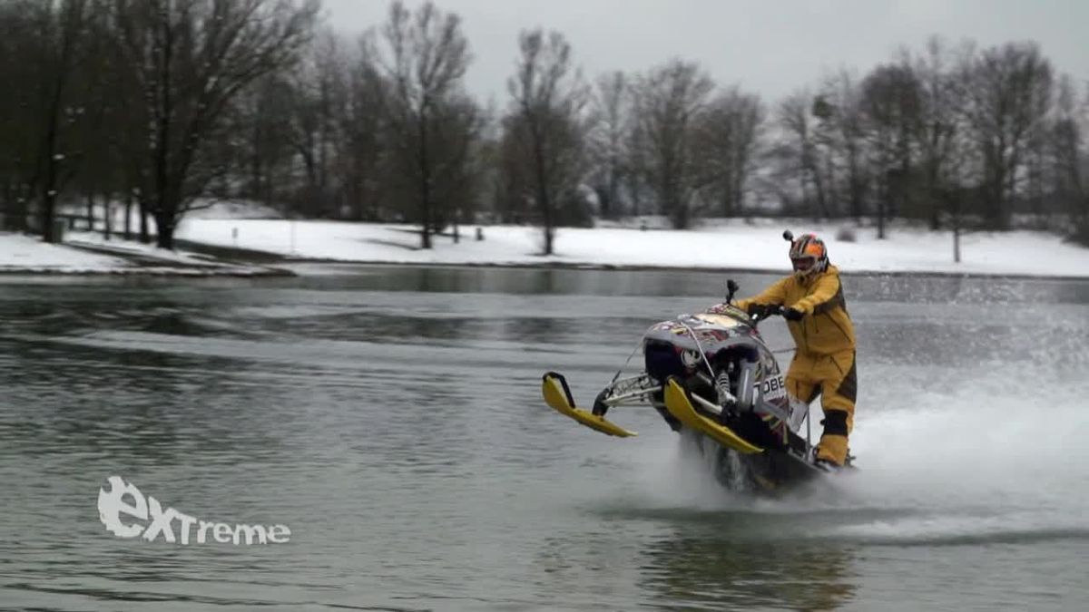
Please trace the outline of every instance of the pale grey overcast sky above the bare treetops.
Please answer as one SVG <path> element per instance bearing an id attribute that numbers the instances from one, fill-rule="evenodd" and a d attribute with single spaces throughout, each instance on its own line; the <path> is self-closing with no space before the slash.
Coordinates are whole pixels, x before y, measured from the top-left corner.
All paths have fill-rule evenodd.
<path id="1" fill-rule="evenodd" d="M 417 7 L 419 0 L 407 0 Z M 930 34 L 981 45 L 1032 39 L 1059 72 L 1089 78 L 1089 0 L 436 0 L 463 19 L 470 91 L 506 101 L 517 33 L 559 29 L 588 75 L 681 57 L 720 84 L 774 99 L 841 65 L 860 72 Z M 325 0 L 337 29 L 386 20 L 387 0 Z"/>

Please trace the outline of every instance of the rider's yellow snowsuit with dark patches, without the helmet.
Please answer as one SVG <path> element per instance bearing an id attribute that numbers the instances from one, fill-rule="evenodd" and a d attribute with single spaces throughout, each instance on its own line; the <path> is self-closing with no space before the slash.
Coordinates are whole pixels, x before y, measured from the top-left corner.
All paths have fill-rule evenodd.
<path id="1" fill-rule="evenodd" d="M 843 465 L 847 437 L 854 428 L 858 378 L 855 328 L 847 315 L 840 270 L 830 264 L 823 272 L 805 280 L 792 274 L 763 293 L 735 303 L 746 311 L 754 305 L 771 304 L 805 314 L 797 321 L 787 321 L 797 350 L 786 372 L 786 390 L 806 403 L 821 395 L 824 431 L 817 456 Z"/>

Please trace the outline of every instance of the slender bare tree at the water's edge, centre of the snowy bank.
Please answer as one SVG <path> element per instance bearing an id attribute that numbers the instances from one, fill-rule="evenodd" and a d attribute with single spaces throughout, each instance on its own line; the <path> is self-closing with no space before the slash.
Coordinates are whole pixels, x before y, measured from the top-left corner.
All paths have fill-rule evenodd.
<path id="1" fill-rule="evenodd" d="M 582 179 L 586 133 L 584 109 L 589 91 L 575 71 L 571 45 L 558 32 L 518 36 L 518 63 L 507 83 L 517 158 L 528 166 L 533 198 L 544 232 L 544 255 L 552 255 L 559 208 L 575 199 Z"/>

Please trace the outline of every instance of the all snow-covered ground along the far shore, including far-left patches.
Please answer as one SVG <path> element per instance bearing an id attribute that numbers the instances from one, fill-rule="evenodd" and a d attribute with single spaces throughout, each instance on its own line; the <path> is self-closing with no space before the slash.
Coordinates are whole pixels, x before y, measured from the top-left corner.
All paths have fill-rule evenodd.
<path id="1" fill-rule="evenodd" d="M 73 210 L 72 212 L 75 212 Z M 122 213 L 114 207 L 114 216 Z M 661 219 L 624 227 L 560 229 L 555 254 L 539 255 L 539 229 L 486 225 L 461 228 L 461 242 L 433 237 L 433 248 L 419 248 L 414 225 L 290 221 L 253 203 L 220 203 L 186 217 L 178 237 L 219 247 L 278 254 L 287 260 L 441 265 L 565 265 L 585 267 L 671 267 L 745 269 L 783 272 L 788 269 L 787 244 L 781 234 L 816 232 L 829 245 L 832 262 L 844 272 L 923 272 L 1018 274 L 1089 278 L 1089 249 L 1044 232 L 970 233 L 962 236 L 962 261 L 953 261 L 949 232 L 930 232 L 895 223 L 889 237 L 877 240 L 874 228 L 853 228 L 853 241 L 840 240 L 849 224 L 808 220 L 708 220 L 690 231 L 663 229 Z M 270 219 L 270 217 L 273 217 Z M 121 227 L 118 218 L 114 230 Z M 136 228 L 136 224 L 133 224 Z M 253 267 L 213 261 L 196 253 L 169 252 L 101 234 L 69 232 L 71 245 L 96 252 L 49 245 L 32 236 L 0 233 L 0 271 L 26 272 L 160 272 L 248 273 Z"/>

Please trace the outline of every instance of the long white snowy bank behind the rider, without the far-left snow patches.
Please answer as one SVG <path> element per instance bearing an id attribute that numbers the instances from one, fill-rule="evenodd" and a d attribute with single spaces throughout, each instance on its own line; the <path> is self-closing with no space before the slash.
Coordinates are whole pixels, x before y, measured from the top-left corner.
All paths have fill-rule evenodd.
<path id="1" fill-rule="evenodd" d="M 178 237 L 196 243 L 279 254 L 287 259 L 366 264 L 572 266 L 735 269 L 783 272 L 787 245 L 781 234 L 816 232 L 844 272 L 915 272 L 1089 278 L 1089 249 L 1044 232 L 970 233 L 962 261 L 953 261 L 949 232 L 893 227 L 877 240 L 872 228 L 854 229 L 855 242 L 836 240 L 842 224 L 778 219 L 725 221 L 689 230 L 560 229 L 555 254 L 542 250 L 541 232 L 512 225 L 462 228 L 461 241 L 435 236 L 419 248 L 413 225 L 337 221 L 188 219 Z"/>

